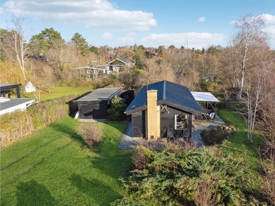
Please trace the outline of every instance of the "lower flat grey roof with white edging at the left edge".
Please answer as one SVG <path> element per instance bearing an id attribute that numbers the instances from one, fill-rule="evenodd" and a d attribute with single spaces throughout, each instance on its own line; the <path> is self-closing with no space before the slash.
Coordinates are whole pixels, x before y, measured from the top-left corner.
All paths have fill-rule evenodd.
<path id="1" fill-rule="evenodd" d="M 4 100 L 8 100 L 3 102 Z M 34 102 L 34 99 L 21 99 L 21 98 L 1 98 L 0 100 L 0 114 L 7 111 L 13 111 L 14 109 L 22 109 Z"/>

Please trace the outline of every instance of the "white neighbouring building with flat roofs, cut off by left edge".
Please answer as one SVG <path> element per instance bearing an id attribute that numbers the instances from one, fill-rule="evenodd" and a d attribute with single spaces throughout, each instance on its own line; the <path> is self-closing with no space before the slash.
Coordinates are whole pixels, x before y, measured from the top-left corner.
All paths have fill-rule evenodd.
<path id="1" fill-rule="evenodd" d="M 5 113 L 12 113 L 16 110 L 24 111 L 28 106 L 30 106 L 34 99 L 25 99 L 20 97 L 19 86 L 22 84 L 0 84 L 0 115 Z M 17 90 L 17 98 L 5 98 L 5 91 L 10 89 Z"/>

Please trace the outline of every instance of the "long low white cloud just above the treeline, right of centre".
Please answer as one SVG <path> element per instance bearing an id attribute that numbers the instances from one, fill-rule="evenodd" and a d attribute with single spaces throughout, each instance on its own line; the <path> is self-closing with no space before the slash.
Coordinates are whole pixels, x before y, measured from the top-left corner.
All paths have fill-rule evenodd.
<path id="1" fill-rule="evenodd" d="M 181 34 L 151 34 L 142 38 L 141 42 L 147 47 L 159 47 L 164 45 L 166 47 L 175 45 L 175 47 L 188 47 L 195 49 L 207 48 L 210 45 L 221 45 L 223 43 L 223 34 L 210 33 L 181 33 Z"/>

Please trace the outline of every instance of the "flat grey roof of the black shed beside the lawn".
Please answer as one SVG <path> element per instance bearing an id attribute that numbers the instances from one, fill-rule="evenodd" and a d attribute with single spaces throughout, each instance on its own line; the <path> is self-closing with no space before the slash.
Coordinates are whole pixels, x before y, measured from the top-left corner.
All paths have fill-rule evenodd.
<path id="1" fill-rule="evenodd" d="M 110 100 L 114 95 L 116 95 L 118 92 L 120 92 L 122 88 L 101 88 L 96 89 L 96 91 L 93 91 L 87 95 L 85 95 L 83 98 L 80 98 L 78 100 L 74 100 L 74 103 L 77 102 L 86 102 L 86 101 L 104 101 L 104 100 Z"/>

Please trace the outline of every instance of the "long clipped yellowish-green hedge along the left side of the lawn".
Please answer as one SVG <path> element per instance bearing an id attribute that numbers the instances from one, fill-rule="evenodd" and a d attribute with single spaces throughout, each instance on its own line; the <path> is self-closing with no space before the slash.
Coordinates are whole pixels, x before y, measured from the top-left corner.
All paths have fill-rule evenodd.
<path id="1" fill-rule="evenodd" d="M 58 119 L 63 119 L 72 111 L 77 111 L 77 105 L 72 100 L 78 96 L 79 94 L 67 95 L 39 104 L 32 104 L 27 108 L 27 111 L 14 111 L 1 115 L 0 148 L 32 135 L 34 131 L 48 126 Z"/>

